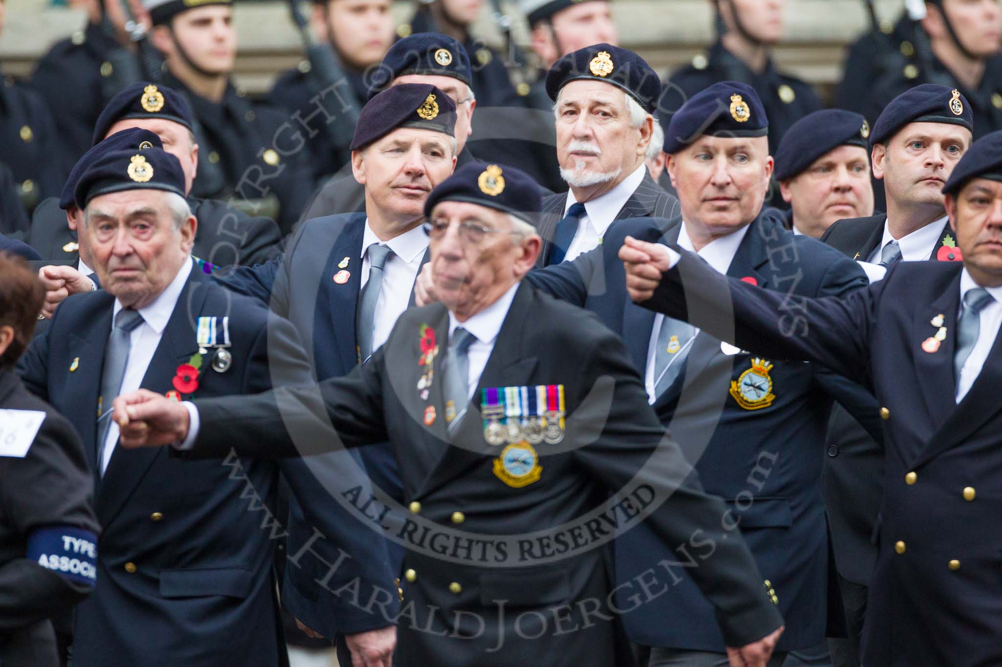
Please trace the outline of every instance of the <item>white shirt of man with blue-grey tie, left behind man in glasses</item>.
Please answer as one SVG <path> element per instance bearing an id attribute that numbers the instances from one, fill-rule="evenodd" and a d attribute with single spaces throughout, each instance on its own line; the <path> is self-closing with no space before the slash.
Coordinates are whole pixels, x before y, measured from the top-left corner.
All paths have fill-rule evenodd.
<path id="1" fill-rule="evenodd" d="M 421 228 L 421 225 L 418 225 L 389 241 L 380 241 L 372 227 L 369 226 L 367 218 L 366 231 L 362 236 L 362 254 L 360 255 L 362 257 L 360 293 L 369 282 L 369 271 L 372 268 L 369 247 L 380 244 L 389 246 L 393 254 L 386 258 L 386 266 L 383 267 L 383 284 L 380 285 L 379 298 L 376 301 L 373 352 L 376 352 L 390 337 L 390 332 L 393 330 L 393 325 L 397 323 L 397 318 L 407 310 L 411 302 L 414 281 L 418 277 L 418 270 L 421 268 L 421 260 L 425 256 L 425 251 L 428 250 L 428 235 Z"/>

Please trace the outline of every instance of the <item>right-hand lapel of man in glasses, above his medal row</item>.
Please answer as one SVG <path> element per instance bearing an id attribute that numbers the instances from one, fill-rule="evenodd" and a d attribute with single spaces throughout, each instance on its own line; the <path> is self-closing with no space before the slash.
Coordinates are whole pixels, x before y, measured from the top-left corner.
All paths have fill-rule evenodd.
<path id="1" fill-rule="evenodd" d="M 532 299 L 532 289 L 527 285 L 520 286 L 515 293 L 515 298 L 494 341 L 494 349 L 487 359 L 484 372 L 480 375 L 477 389 L 466 407 L 466 414 L 463 415 L 451 438 L 445 436 L 444 442 L 449 443 L 449 446 L 442 448 L 439 460 L 422 485 L 422 493 L 429 493 L 449 480 L 455 479 L 471 465 L 481 461 L 484 456 L 496 456 L 500 453 L 499 448 L 492 447 L 484 440 L 479 397 L 486 387 L 528 384 L 538 361 L 532 352 L 525 350 L 523 346 L 525 322 L 531 312 Z M 441 383 L 439 391 L 441 392 Z M 445 420 L 442 421 L 444 424 Z"/>

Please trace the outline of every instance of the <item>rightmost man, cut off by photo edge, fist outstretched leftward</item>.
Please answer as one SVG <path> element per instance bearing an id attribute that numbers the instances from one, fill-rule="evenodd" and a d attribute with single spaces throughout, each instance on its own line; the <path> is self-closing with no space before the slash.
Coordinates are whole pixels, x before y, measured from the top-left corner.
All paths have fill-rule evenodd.
<path id="1" fill-rule="evenodd" d="M 677 247 L 630 239 L 620 251 L 641 305 L 873 383 L 885 484 L 863 635 L 871 667 L 1002 663 L 1000 156 L 1002 133 L 986 135 L 943 188 L 962 261 L 898 262 L 868 289 L 808 299 L 793 333 L 783 295 Z"/>

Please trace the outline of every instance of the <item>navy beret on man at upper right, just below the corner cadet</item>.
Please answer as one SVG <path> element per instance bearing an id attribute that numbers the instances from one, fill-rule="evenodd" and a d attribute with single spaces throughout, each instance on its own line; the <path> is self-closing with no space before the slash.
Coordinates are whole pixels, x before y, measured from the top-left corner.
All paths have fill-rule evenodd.
<path id="1" fill-rule="evenodd" d="M 906 90 L 884 107 L 874 123 L 870 144 L 886 142 L 909 123 L 948 123 L 974 132 L 971 105 L 959 90 L 936 83 L 924 83 Z"/>

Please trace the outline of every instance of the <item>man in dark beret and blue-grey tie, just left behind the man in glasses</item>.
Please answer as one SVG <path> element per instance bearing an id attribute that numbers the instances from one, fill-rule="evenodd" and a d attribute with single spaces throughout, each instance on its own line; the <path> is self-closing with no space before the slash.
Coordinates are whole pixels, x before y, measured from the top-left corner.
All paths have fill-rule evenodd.
<path id="1" fill-rule="evenodd" d="M 282 257 L 216 277 L 270 305 L 300 331 L 312 332 L 305 344 L 318 378 L 347 375 L 366 362 L 411 305 L 415 278 L 428 261 L 424 206 L 432 189 L 453 172 L 455 127 L 452 97 L 435 86 L 403 83 L 374 96 L 362 110 L 351 145 L 365 211 L 307 220 Z M 320 528 L 300 510 L 302 500 L 292 499 L 289 553 L 302 557 L 287 567 L 283 592 L 283 603 L 308 634 L 344 639 L 338 642 L 343 664 L 353 660 L 349 650 L 362 659 L 369 650 L 392 649 L 395 635 L 385 614 L 349 604 L 334 591 L 358 580 L 359 597 L 368 600 L 372 591 L 392 584 L 398 575 L 391 563 L 402 557 L 396 545 L 387 552 L 381 535 L 366 527 L 372 525 L 368 517 L 331 500 L 352 488 L 368 488 L 369 480 L 389 497 L 399 497 L 401 481 L 389 445 L 353 451 L 351 458 L 365 470 L 360 479 L 338 477 L 337 468 L 344 467 L 338 458 L 292 464 L 306 469 L 312 487 L 302 495 L 326 501 L 335 529 L 321 527 L 322 537 L 315 537 Z M 345 561 L 339 549 L 381 553 Z"/>

